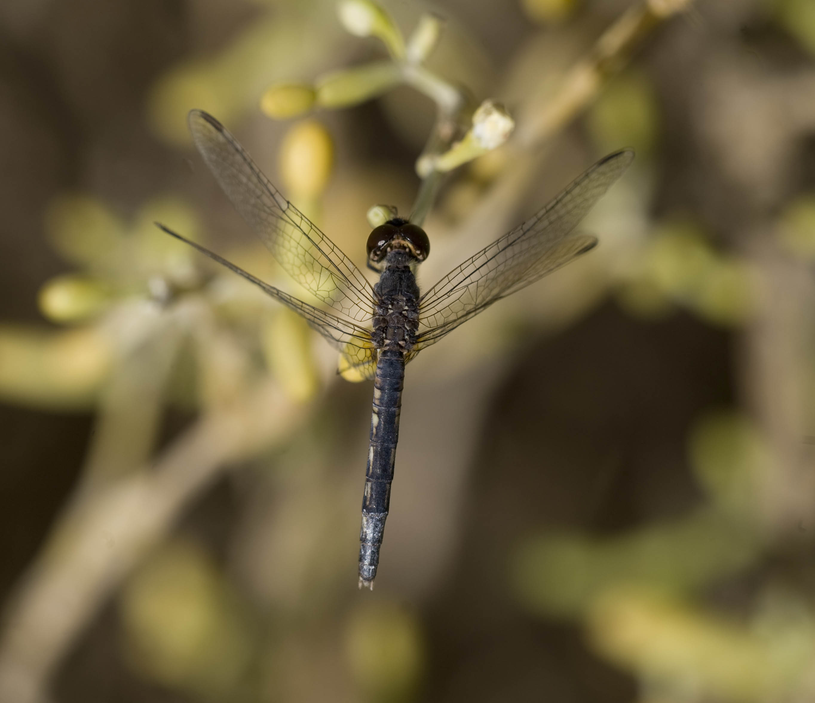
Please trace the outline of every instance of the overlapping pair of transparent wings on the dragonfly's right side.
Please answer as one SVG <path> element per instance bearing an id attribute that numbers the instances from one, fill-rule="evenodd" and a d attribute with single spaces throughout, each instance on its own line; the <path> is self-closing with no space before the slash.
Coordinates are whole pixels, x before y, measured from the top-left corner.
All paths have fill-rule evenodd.
<path id="1" fill-rule="evenodd" d="M 597 161 L 525 223 L 454 268 L 422 295 L 416 351 L 438 342 L 470 317 L 569 263 L 597 245 L 572 230 L 628 168 L 621 151 Z"/>

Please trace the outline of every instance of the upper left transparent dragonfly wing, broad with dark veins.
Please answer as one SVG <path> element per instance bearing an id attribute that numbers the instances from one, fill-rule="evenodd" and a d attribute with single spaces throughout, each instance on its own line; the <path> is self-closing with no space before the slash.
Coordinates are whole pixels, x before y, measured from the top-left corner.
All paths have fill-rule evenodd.
<path id="1" fill-rule="evenodd" d="M 346 254 L 280 194 L 218 120 L 192 110 L 189 126 L 223 192 L 280 266 L 337 312 L 370 320 L 373 289 Z"/>

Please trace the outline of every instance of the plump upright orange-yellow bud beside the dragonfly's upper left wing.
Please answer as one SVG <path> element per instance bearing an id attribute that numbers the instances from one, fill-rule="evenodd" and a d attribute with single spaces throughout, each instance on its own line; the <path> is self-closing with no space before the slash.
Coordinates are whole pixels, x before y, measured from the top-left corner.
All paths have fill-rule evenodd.
<path id="1" fill-rule="evenodd" d="M 315 120 L 299 122 L 280 146 L 280 175 L 294 200 L 318 197 L 328 184 L 334 145 L 328 130 Z"/>

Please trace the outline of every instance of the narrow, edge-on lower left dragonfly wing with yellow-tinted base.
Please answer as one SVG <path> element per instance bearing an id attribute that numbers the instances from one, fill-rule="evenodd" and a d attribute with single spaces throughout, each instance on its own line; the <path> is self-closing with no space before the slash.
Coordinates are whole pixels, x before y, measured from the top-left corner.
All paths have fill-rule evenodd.
<path id="1" fill-rule="evenodd" d="M 176 239 L 180 239 L 192 246 L 201 254 L 209 256 L 210 259 L 217 261 L 222 266 L 227 267 L 230 271 L 236 272 L 239 276 L 243 276 L 247 281 L 257 285 L 264 293 L 271 295 L 272 298 L 277 299 L 283 303 L 290 310 L 297 312 L 309 324 L 311 329 L 315 329 L 319 334 L 328 340 L 333 347 L 336 347 L 342 352 L 343 363 L 347 366 L 353 367 L 361 378 L 373 378 L 377 366 L 376 350 L 373 348 L 371 342 L 371 330 L 365 329 L 360 325 L 347 320 L 343 320 L 330 312 L 320 310 L 319 307 L 314 307 L 308 303 L 303 302 L 293 295 L 284 293 L 284 291 L 269 285 L 259 278 L 253 276 L 249 272 L 245 272 L 242 268 L 237 267 L 231 261 L 227 261 L 222 256 L 218 256 L 214 251 L 206 249 L 194 241 L 182 237 L 180 234 L 173 232 L 171 229 L 166 228 L 163 224 L 156 223 L 156 225 L 172 235 Z"/>

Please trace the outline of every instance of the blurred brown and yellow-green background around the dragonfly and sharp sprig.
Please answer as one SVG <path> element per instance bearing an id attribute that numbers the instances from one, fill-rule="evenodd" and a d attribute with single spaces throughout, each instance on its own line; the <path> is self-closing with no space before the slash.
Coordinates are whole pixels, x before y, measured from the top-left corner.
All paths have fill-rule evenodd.
<path id="1" fill-rule="evenodd" d="M 432 101 L 262 114 L 275 82 L 385 60 L 334 2 L 2 3 L 0 700 L 811 700 L 815 6 L 385 7 L 406 36 L 443 15 L 428 69 L 540 130 L 447 179 L 425 288 L 604 153 L 637 161 L 596 251 L 407 368 L 368 593 L 371 384 L 152 220 L 296 293 L 187 110 L 298 206 L 302 139 L 331 170 L 302 209 L 361 265 Z"/>

